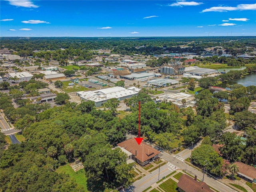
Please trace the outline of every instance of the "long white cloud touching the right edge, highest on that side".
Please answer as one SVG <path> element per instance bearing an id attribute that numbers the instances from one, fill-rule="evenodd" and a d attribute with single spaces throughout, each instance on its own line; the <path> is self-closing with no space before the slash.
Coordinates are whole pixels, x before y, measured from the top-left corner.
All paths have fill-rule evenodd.
<path id="1" fill-rule="evenodd" d="M 236 7 L 219 6 L 211 7 L 202 10 L 202 12 L 228 12 L 228 11 L 244 11 L 244 10 L 256 10 L 256 4 L 239 4 Z"/>

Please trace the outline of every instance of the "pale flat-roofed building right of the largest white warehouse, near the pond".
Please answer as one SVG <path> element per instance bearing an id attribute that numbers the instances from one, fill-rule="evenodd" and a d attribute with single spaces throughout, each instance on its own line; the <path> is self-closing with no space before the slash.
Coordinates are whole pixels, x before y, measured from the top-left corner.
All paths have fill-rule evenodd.
<path id="1" fill-rule="evenodd" d="M 161 101 L 172 102 L 173 104 L 178 106 L 178 108 L 186 107 L 188 105 L 190 105 L 190 106 L 195 105 L 194 96 L 192 96 L 190 94 L 186 94 L 186 93 L 169 93 L 169 94 L 159 96 L 159 99 Z M 186 100 L 185 104 L 182 103 L 182 99 Z"/>

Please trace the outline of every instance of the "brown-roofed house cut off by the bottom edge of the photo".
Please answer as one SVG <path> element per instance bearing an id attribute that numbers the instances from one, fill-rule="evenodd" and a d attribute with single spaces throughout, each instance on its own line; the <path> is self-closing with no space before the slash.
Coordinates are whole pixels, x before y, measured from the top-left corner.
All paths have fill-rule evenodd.
<path id="1" fill-rule="evenodd" d="M 195 178 L 183 174 L 177 184 L 179 192 L 214 192 L 205 182 L 198 182 Z"/>

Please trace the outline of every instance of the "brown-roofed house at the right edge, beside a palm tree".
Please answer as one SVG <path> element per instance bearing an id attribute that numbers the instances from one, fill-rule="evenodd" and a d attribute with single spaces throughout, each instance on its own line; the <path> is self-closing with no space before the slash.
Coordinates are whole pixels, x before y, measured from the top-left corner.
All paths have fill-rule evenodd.
<path id="1" fill-rule="evenodd" d="M 241 162 L 235 162 L 235 164 L 239 167 L 239 171 L 237 173 L 238 176 L 242 177 L 250 183 L 256 183 L 256 168 Z"/>

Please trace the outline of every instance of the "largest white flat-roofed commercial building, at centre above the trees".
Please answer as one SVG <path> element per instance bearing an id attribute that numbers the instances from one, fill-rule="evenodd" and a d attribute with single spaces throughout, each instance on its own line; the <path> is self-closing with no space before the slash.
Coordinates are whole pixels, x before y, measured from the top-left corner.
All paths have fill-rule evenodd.
<path id="1" fill-rule="evenodd" d="M 96 107 L 100 107 L 109 99 L 117 98 L 119 101 L 122 101 L 138 95 L 138 91 L 137 89 L 131 90 L 123 87 L 112 87 L 95 91 L 80 91 L 76 92 L 76 95 L 80 96 L 81 100 L 93 101 Z"/>

